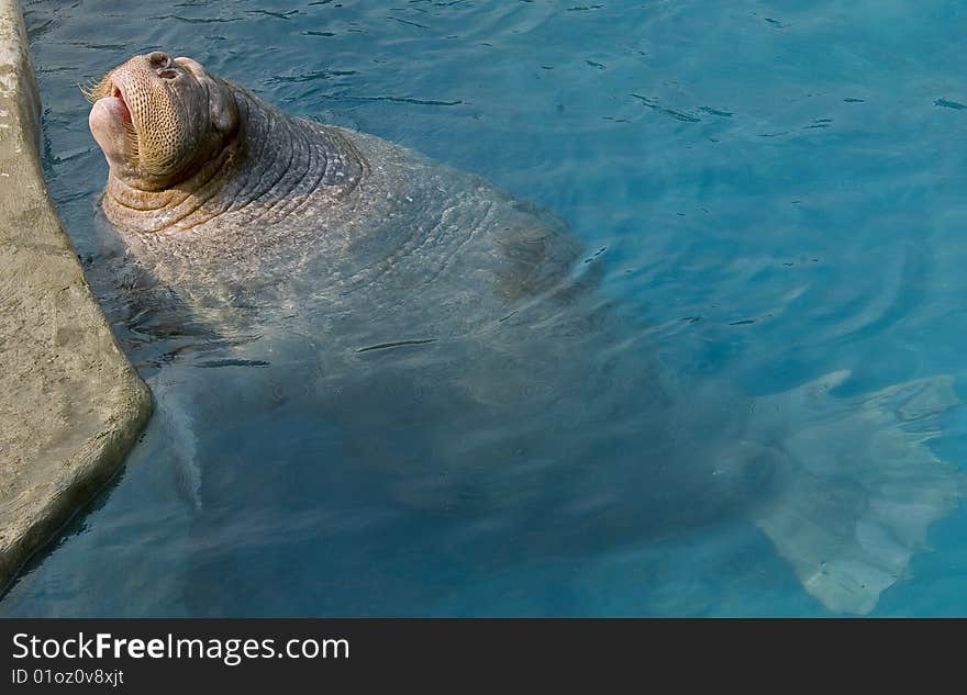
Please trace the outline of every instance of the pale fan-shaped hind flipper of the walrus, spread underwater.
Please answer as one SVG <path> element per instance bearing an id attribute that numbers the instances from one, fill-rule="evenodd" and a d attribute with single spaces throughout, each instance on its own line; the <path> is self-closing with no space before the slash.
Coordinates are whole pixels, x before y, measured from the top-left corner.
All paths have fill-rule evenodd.
<path id="1" fill-rule="evenodd" d="M 781 458 L 777 494 L 753 519 L 826 608 L 867 614 L 967 490 L 964 473 L 924 444 L 940 434 L 937 416 L 960 401 L 951 377 L 829 396 L 847 375 L 757 401 L 756 434 L 785 425 L 789 435 L 773 449 Z"/>

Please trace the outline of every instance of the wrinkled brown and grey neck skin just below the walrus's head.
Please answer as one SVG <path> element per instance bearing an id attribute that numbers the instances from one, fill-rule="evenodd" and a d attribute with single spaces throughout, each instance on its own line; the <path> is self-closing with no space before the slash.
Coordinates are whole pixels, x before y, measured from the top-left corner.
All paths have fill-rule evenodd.
<path id="1" fill-rule="evenodd" d="M 114 225 L 177 233 L 226 215 L 275 223 L 310 200 L 336 203 L 359 184 L 365 161 L 336 128 L 285 114 L 237 85 L 231 88 L 237 130 L 180 181 L 146 190 L 111 168 L 101 202 Z"/>

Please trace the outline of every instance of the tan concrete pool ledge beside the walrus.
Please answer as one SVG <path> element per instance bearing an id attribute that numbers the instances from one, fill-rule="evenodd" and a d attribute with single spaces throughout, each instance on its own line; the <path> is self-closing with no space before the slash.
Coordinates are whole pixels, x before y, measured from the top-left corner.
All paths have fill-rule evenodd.
<path id="1" fill-rule="evenodd" d="M 16 0 L 0 0 L 0 594 L 120 468 L 151 393 L 118 346 L 44 184 Z"/>

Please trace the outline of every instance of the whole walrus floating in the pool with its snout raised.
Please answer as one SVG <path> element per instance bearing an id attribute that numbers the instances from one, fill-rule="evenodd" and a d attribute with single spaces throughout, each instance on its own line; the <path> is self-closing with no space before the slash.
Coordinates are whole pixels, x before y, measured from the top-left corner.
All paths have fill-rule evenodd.
<path id="1" fill-rule="evenodd" d="M 201 433 L 285 408 L 338 423 L 381 494 L 456 545 L 514 562 L 745 518 L 827 609 L 863 614 L 963 495 L 925 445 L 959 404 L 947 375 L 848 400 L 845 371 L 755 399 L 686 382 L 562 220 L 477 176 L 162 52 L 89 98 L 138 321 L 194 332 L 153 388 L 199 509 L 241 475 L 202 466 Z M 282 466 L 246 490 L 304 485 Z"/>

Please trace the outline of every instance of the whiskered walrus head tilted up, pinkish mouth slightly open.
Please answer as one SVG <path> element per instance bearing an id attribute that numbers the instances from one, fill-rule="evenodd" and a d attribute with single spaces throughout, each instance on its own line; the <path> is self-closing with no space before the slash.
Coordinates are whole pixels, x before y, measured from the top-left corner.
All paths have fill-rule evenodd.
<path id="1" fill-rule="evenodd" d="M 189 178 L 238 124 L 229 85 L 191 58 L 160 52 L 131 58 L 86 94 L 111 173 L 143 190 Z"/>

